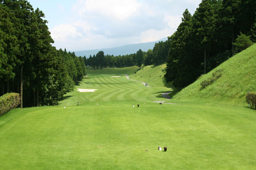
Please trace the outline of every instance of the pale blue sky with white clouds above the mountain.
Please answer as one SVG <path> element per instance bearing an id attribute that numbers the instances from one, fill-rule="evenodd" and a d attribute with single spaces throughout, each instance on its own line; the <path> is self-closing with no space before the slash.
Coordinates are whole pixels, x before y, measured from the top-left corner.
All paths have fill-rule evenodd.
<path id="1" fill-rule="evenodd" d="M 201 0 L 28 0 L 45 14 L 57 49 L 83 51 L 171 36 Z"/>

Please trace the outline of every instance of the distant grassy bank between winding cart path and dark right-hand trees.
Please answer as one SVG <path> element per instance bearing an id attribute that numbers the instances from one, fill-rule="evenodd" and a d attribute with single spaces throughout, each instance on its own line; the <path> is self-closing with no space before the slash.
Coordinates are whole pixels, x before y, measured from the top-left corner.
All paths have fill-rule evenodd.
<path id="1" fill-rule="evenodd" d="M 148 65 L 140 69 L 134 74 L 130 75 L 131 79 L 147 82 L 149 86 L 152 87 L 167 87 L 173 88 L 172 83 L 166 83 L 164 77 L 164 72 L 162 71 L 166 68 L 166 64 L 163 65 Z"/>

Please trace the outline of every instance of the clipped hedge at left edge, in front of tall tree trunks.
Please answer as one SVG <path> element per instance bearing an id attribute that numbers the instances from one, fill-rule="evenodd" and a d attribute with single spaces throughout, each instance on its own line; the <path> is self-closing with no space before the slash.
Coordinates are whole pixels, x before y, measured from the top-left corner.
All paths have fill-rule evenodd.
<path id="1" fill-rule="evenodd" d="M 7 93 L 0 96 L 0 116 L 10 109 L 16 108 L 20 104 L 20 94 Z"/>

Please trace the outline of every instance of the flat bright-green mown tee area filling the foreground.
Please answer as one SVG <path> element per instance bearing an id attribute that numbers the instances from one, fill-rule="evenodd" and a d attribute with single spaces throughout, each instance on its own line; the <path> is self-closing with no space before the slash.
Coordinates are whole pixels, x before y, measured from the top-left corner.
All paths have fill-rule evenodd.
<path id="1" fill-rule="evenodd" d="M 253 170 L 255 123 L 247 108 L 120 101 L 25 108 L 0 127 L 0 169 Z"/>

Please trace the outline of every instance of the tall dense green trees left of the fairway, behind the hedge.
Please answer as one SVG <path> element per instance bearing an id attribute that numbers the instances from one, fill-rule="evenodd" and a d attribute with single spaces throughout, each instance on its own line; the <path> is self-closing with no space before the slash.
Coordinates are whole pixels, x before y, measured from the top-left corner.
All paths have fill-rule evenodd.
<path id="1" fill-rule="evenodd" d="M 20 94 L 21 108 L 57 105 L 86 74 L 84 60 L 56 50 L 44 13 L 26 0 L 0 3 L 0 94 Z"/>

